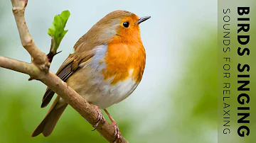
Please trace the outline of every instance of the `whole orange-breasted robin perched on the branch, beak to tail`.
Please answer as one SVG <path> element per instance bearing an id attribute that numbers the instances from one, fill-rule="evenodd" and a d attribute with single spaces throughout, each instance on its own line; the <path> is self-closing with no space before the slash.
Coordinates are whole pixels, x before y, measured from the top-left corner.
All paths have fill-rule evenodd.
<path id="1" fill-rule="evenodd" d="M 142 80 L 146 52 L 139 24 L 149 18 L 151 16 L 139 17 L 124 10 L 108 13 L 82 35 L 73 47 L 73 54 L 65 59 L 56 72 L 82 98 L 95 105 L 99 122 L 102 120 L 100 109 L 105 110 L 116 129 L 117 139 L 122 136 L 117 122 L 106 108 L 130 96 Z M 54 94 L 50 88 L 46 89 L 41 108 L 50 103 Z M 31 137 L 41 133 L 48 137 L 67 106 L 68 103 L 57 96 Z"/>

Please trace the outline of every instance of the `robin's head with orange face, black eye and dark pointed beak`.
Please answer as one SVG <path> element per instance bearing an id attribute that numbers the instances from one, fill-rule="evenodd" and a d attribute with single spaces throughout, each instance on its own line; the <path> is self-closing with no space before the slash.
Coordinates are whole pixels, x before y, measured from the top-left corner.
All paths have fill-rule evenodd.
<path id="1" fill-rule="evenodd" d="M 99 22 L 97 22 L 92 30 L 98 33 L 97 38 L 107 40 L 108 42 L 141 42 L 139 24 L 149 19 L 150 16 L 139 16 L 129 11 L 113 11 Z"/>

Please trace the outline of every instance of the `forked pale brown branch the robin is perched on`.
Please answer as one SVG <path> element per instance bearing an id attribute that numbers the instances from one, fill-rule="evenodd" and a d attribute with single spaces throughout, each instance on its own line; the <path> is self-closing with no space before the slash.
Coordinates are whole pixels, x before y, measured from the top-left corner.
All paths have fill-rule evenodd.
<path id="1" fill-rule="evenodd" d="M 31 55 L 31 63 L 21 62 L 7 57 L 0 57 L 0 67 L 28 74 L 31 76 L 30 79 L 42 81 L 43 84 L 46 84 L 46 86 L 77 110 L 87 122 L 90 122 L 91 125 L 95 125 L 98 116 L 97 110 L 58 76 L 49 71 L 50 62 L 47 55 L 36 47 L 33 38 L 28 32 L 28 27 L 24 18 L 24 11 L 28 0 L 11 0 L 11 3 L 13 4 L 13 13 L 18 27 L 18 33 L 21 38 L 21 44 Z M 100 135 L 105 137 L 108 142 L 114 142 L 115 129 L 109 122 L 101 122 L 96 130 L 100 132 Z M 122 137 L 119 142 L 125 143 L 127 140 Z"/>

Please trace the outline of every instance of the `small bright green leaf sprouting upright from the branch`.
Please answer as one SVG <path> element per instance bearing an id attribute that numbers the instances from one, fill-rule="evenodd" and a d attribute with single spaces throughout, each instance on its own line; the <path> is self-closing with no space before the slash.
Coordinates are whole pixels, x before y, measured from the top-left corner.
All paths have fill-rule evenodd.
<path id="1" fill-rule="evenodd" d="M 55 53 L 57 52 L 61 40 L 63 40 L 63 37 L 68 32 L 68 30 L 64 30 L 64 28 L 69 16 L 69 11 L 63 11 L 62 13 L 54 17 L 53 23 L 50 25 L 50 28 L 48 28 L 48 35 L 50 35 L 53 39 L 52 45 L 50 47 L 50 52 L 52 52 L 53 55 L 55 55 Z"/>

